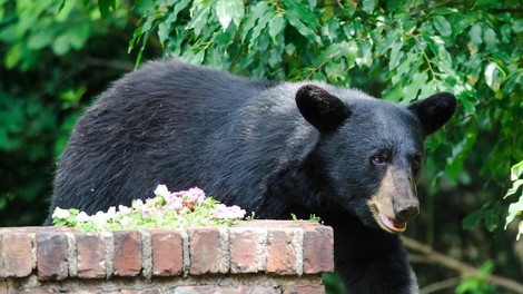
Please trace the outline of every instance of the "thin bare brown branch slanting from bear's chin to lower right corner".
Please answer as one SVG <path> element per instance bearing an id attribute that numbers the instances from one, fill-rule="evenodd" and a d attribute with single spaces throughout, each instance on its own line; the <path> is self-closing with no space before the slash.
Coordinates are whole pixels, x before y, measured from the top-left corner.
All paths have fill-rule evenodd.
<path id="1" fill-rule="evenodd" d="M 442 253 L 438 253 L 434 251 L 431 246 L 425 245 L 423 243 L 420 243 L 415 239 L 402 236 L 403 244 L 405 244 L 405 247 L 422 253 L 425 255 L 425 257 L 433 263 L 438 263 L 443 266 L 446 266 L 448 268 L 455 270 L 460 272 L 462 275 L 480 275 L 481 272 L 478 268 L 467 265 L 465 263 L 462 263 L 453 257 L 446 256 Z M 497 276 L 497 275 L 489 275 L 485 277 L 485 280 L 494 285 L 512 290 L 516 293 L 523 293 L 523 284 L 517 283 L 513 280 L 503 277 L 503 276 Z"/>

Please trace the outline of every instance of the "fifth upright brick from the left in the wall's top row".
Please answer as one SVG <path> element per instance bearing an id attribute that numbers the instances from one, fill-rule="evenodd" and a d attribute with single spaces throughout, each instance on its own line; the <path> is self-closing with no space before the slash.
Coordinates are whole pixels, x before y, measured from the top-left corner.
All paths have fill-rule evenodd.
<path id="1" fill-rule="evenodd" d="M 181 235 L 171 229 L 149 231 L 152 246 L 152 274 L 155 276 L 180 275 L 184 266 Z"/>

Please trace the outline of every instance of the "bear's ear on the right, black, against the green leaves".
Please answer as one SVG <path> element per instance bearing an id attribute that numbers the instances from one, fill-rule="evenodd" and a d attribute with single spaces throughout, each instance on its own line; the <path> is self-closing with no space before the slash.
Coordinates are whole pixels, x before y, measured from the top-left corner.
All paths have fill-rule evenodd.
<path id="1" fill-rule="evenodd" d="M 450 92 L 435 94 L 426 99 L 412 102 L 407 107 L 423 126 L 423 136 L 428 136 L 443 127 L 456 110 L 456 97 Z"/>

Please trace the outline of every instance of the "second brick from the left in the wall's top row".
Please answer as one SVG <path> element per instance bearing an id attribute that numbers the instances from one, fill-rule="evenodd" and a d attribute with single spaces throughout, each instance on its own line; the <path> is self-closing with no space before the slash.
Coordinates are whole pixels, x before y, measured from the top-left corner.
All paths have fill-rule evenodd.
<path id="1" fill-rule="evenodd" d="M 37 233 L 38 280 L 65 280 L 69 274 L 67 251 L 69 245 L 63 233 Z"/>

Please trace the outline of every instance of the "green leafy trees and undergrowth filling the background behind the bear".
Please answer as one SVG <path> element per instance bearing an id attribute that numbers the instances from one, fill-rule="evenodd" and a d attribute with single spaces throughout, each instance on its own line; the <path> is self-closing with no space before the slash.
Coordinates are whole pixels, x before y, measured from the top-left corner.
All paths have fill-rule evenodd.
<path id="1" fill-rule="evenodd" d="M 0 0 L 0 226 L 42 223 L 70 130 L 111 81 L 177 56 L 403 104 L 454 92 L 457 115 L 426 141 L 412 264 L 422 293 L 523 293 L 522 13 L 499 0 Z"/>

